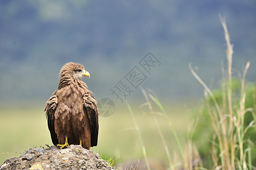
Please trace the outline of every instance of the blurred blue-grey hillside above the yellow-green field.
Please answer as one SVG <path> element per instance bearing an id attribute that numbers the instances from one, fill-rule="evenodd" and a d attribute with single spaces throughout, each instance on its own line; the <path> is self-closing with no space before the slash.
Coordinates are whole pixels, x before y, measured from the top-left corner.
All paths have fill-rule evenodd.
<path id="1" fill-rule="evenodd" d="M 221 79 L 225 16 L 234 65 L 247 79 L 256 73 L 255 1 L 0 1 L 0 100 L 47 100 L 64 63 L 82 63 L 96 97 L 151 52 L 161 65 L 145 73 L 142 87 L 165 99 L 200 97 L 188 70 L 192 62 L 209 86 Z M 235 73 L 236 74 L 236 73 Z M 139 90 L 133 92 L 137 96 Z"/>

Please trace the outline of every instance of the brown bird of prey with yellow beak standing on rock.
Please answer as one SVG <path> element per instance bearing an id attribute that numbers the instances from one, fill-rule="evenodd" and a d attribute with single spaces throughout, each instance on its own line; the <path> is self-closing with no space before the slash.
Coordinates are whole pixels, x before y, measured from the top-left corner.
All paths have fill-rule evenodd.
<path id="1" fill-rule="evenodd" d="M 97 103 L 83 76 L 90 78 L 82 65 L 66 63 L 60 70 L 58 90 L 45 105 L 52 143 L 61 148 L 73 144 L 89 150 L 98 143 Z"/>

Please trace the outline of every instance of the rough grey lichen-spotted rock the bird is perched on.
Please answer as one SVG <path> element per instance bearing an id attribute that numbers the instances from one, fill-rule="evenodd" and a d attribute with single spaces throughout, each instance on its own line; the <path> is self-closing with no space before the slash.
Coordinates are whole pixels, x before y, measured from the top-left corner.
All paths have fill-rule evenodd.
<path id="1" fill-rule="evenodd" d="M 7 159 L 0 167 L 4 169 L 112 169 L 99 154 L 80 145 L 60 149 L 56 146 L 30 148 L 19 158 Z"/>

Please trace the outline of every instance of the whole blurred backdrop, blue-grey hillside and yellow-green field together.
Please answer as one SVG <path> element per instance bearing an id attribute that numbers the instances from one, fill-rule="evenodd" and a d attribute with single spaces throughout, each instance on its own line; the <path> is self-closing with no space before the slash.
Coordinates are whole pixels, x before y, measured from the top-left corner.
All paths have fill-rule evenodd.
<path id="1" fill-rule="evenodd" d="M 190 109 L 203 88 L 188 63 L 210 87 L 219 86 L 225 41 L 219 14 L 225 16 L 234 44 L 233 67 L 241 72 L 251 62 L 247 79 L 256 73 L 255 1 L 0 1 L 0 163 L 36 145 L 52 145 L 45 101 L 56 90 L 64 63 L 82 63 L 84 79 L 97 99 L 116 105 L 110 117 L 100 117 L 99 144 L 93 150 L 121 160 L 142 156 L 139 139 L 124 103 L 111 94 L 119 80 L 137 66 L 166 108 L 184 140 Z M 161 65 L 149 74 L 139 61 L 151 52 Z M 237 74 L 237 73 L 234 73 Z M 125 83 L 128 84 L 126 81 Z M 139 122 L 149 155 L 166 159 L 152 117 L 133 88 L 127 99 Z M 170 147 L 177 145 L 165 120 L 161 126 Z M 152 131 L 151 131 L 152 130 Z M 153 138 L 153 139 L 152 139 Z M 154 147 L 158 150 L 153 149 Z M 157 152 L 157 153 L 156 153 Z M 8 154 L 9 153 L 9 154 Z"/>

